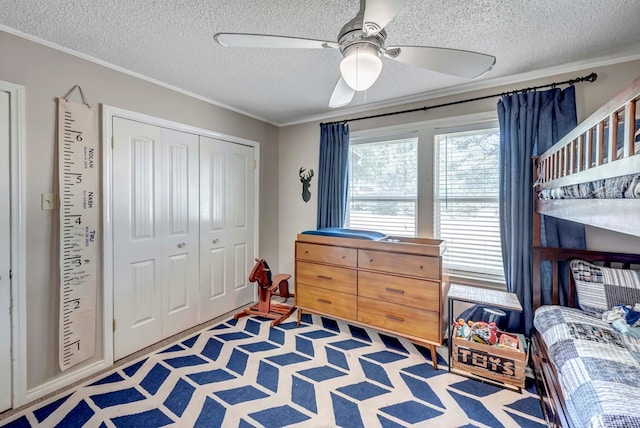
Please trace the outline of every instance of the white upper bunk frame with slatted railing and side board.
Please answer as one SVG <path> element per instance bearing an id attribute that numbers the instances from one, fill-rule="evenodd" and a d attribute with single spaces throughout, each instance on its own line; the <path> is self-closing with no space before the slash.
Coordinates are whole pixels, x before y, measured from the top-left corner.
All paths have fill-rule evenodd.
<path id="1" fill-rule="evenodd" d="M 639 100 L 640 77 L 536 158 L 535 193 L 640 173 Z M 618 156 L 619 128 L 623 150 Z M 540 214 L 640 236 L 640 199 L 536 198 L 535 207 Z"/>

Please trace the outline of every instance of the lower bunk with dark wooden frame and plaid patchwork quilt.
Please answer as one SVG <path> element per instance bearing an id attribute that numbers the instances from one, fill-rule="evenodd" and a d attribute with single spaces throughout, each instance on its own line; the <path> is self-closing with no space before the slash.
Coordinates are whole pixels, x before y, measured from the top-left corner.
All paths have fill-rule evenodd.
<path id="1" fill-rule="evenodd" d="M 531 355 L 547 422 L 566 428 L 640 427 L 640 339 L 620 333 L 602 316 L 583 309 L 575 296 L 576 292 L 581 296 L 579 287 L 585 284 L 577 290 L 572 269 L 561 268 L 569 261 L 572 266 L 602 265 L 616 272 L 640 269 L 640 254 L 533 249 Z M 542 262 L 551 264 L 553 279 L 552 300 L 545 305 L 541 304 Z M 563 275 L 569 286 L 568 300 L 561 306 Z"/>

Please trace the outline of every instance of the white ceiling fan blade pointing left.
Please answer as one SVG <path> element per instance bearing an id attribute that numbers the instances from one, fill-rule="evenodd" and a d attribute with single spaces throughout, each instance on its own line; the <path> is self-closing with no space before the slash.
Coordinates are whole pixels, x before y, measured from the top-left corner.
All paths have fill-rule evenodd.
<path id="1" fill-rule="evenodd" d="M 336 42 L 268 34 L 217 33 L 213 38 L 222 46 L 240 48 L 323 49 L 338 47 Z"/>

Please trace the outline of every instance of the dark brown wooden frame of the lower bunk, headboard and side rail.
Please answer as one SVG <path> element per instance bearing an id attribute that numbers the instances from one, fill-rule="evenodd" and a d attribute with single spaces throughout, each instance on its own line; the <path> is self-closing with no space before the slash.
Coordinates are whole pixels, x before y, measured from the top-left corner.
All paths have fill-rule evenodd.
<path id="1" fill-rule="evenodd" d="M 533 310 L 535 311 L 543 304 L 540 266 L 542 261 L 549 261 L 552 265 L 552 301 L 544 302 L 549 304 L 560 304 L 560 277 L 562 269 L 561 262 L 572 259 L 582 259 L 588 262 L 600 263 L 608 267 L 629 268 L 630 266 L 640 266 L 640 254 L 605 253 L 589 250 L 573 250 L 566 248 L 534 248 L 533 249 Z M 569 284 L 568 302 L 566 306 L 575 307 L 575 283 L 573 277 L 568 273 Z M 549 426 L 574 427 L 575 425 L 568 418 L 565 399 L 558 384 L 558 375 L 554 365 L 548 358 L 547 348 L 540 334 L 534 329 L 531 334 L 533 352 L 531 352 L 534 370 L 536 374 L 536 384 L 540 392 L 542 408 Z"/>

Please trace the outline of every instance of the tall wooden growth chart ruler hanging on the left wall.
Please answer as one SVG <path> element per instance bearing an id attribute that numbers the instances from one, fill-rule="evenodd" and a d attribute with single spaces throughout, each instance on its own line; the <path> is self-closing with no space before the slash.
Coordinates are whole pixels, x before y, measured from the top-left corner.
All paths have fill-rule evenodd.
<path id="1" fill-rule="evenodd" d="M 69 97 L 75 89 L 83 103 Z M 76 85 L 58 99 L 60 183 L 59 363 L 66 370 L 91 358 L 96 347 L 98 280 L 99 133 L 97 108 Z"/>

